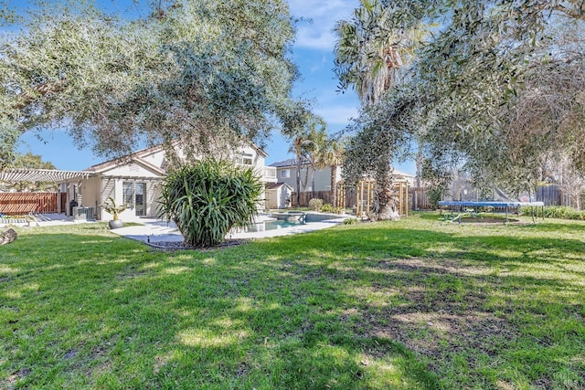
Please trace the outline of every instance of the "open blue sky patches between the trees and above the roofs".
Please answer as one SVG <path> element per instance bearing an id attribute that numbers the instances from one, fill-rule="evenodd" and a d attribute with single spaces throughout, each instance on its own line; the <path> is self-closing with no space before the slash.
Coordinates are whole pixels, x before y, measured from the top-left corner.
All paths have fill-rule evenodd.
<path id="1" fill-rule="evenodd" d="M 314 111 L 327 122 L 328 132 L 339 132 L 345 128 L 350 118 L 356 117 L 359 102 L 353 90 L 343 94 L 336 91 L 333 27 L 337 20 L 351 16 L 358 1 L 289 0 L 289 4 L 293 16 L 312 20 L 312 23 L 301 21 L 297 26 L 293 58 L 302 77 L 297 81 L 294 95 L 314 99 Z M 94 155 L 90 149 L 79 150 L 65 132 L 42 132 L 41 135 L 42 141 L 33 132 L 23 135 L 18 151 L 40 154 L 44 161 L 64 170 L 82 170 L 103 161 L 103 158 Z M 267 163 L 293 157 L 288 149 L 288 142 L 274 132 L 265 148 L 269 154 Z M 410 174 L 415 173 L 413 163 L 399 164 L 397 168 Z"/>

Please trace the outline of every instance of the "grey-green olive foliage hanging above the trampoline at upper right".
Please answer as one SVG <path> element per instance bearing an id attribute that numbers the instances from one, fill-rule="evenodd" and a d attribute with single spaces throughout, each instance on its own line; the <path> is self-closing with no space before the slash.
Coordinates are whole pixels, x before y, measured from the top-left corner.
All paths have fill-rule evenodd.
<path id="1" fill-rule="evenodd" d="M 383 3 L 387 25 L 440 24 L 416 49 L 407 82 L 377 103 L 391 133 L 416 133 L 427 183 L 446 188 L 460 168 L 480 187 L 519 192 L 555 155 L 585 165 L 581 1 Z M 394 137 L 380 138 L 391 153 L 386 140 Z"/>

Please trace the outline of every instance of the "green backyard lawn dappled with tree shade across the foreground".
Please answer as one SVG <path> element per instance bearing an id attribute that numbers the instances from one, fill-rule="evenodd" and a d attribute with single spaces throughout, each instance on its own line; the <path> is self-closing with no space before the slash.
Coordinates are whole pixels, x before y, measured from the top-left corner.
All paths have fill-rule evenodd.
<path id="1" fill-rule="evenodd" d="M 585 387 L 582 221 L 420 214 L 174 253 L 17 232 L 0 388 Z"/>

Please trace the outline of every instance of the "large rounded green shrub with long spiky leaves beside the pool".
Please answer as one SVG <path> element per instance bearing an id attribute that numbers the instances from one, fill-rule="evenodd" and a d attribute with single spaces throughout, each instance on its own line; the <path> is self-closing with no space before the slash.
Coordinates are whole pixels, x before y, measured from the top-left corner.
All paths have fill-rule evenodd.
<path id="1" fill-rule="evenodd" d="M 252 222 L 261 194 L 250 168 L 216 160 L 187 164 L 165 178 L 158 217 L 173 220 L 187 245 L 216 246 L 229 229 Z"/>

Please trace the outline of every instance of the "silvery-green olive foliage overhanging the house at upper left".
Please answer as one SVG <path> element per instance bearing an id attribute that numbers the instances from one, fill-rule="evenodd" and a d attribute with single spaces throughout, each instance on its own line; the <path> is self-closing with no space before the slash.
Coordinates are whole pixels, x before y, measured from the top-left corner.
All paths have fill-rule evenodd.
<path id="1" fill-rule="evenodd" d="M 66 0 L 22 11 L 0 46 L 3 162 L 38 129 L 66 129 L 106 157 L 140 141 L 180 140 L 193 154 L 262 144 L 297 76 L 287 3 L 133 6 L 144 16 Z"/>

